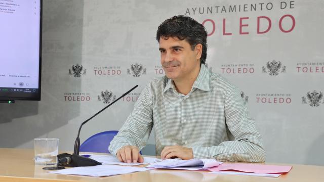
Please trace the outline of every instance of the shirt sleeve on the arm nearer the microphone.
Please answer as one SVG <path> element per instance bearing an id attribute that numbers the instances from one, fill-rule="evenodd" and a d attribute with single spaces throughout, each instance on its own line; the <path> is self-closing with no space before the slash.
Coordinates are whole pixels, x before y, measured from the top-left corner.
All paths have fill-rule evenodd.
<path id="1" fill-rule="evenodd" d="M 153 93 L 151 84 L 147 84 L 134 105 L 124 125 L 115 135 L 109 145 L 109 152 L 116 155 L 123 146 L 136 146 L 142 150 L 149 138 L 153 127 Z"/>

